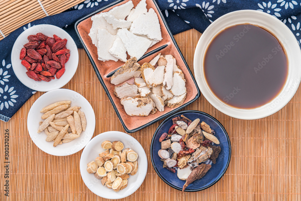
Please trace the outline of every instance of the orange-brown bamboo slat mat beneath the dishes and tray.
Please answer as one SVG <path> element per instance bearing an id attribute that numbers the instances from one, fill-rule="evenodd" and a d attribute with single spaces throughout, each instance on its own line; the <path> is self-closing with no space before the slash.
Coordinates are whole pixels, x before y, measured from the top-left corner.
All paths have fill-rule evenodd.
<path id="1" fill-rule="evenodd" d="M 10 2 L 13 1 L 2 1 L 0 5 Z M 64 2 L 67 1 L 61 1 L 61 7 Z M 73 6 L 72 3 L 68 4 L 69 7 Z M 3 9 L 0 6 L 0 13 Z M 0 16 L 1 30 L 3 15 Z M 10 17 L 8 20 L 14 19 Z M 25 22 L 17 27 L 22 24 Z M 17 28 L 11 26 L 11 29 L 6 27 L 8 32 Z M 175 35 L 191 70 L 200 35 L 196 30 Z M 96 116 L 94 136 L 109 130 L 124 132 L 83 49 L 79 49 L 76 74 L 63 88 L 82 94 L 92 105 Z M 33 102 L 42 94 L 38 92 L 33 95 L 8 123 L 0 121 L 0 200 L 105 200 L 92 193 L 82 181 L 79 172 L 82 151 L 70 156 L 52 156 L 37 148 L 29 137 L 27 114 Z M 130 134 L 144 147 L 148 170 L 141 187 L 123 200 L 301 200 L 300 98 L 299 88 L 293 99 L 280 111 L 252 121 L 222 114 L 202 95 L 186 107 L 204 111 L 218 119 L 228 131 L 232 145 L 231 162 L 224 177 L 214 186 L 197 193 L 183 193 L 169 187 L 161 181 L 151 165 L 150 143 L 162 121 Z M 5 129 L 10 133 L 9 197 L 4 196 Z"/>

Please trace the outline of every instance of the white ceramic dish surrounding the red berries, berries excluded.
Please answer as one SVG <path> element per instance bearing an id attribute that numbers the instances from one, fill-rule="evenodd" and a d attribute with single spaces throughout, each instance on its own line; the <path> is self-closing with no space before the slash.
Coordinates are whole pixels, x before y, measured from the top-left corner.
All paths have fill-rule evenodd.
<path id="1" fill-rule="evenodd" d="M 53 35 L 55 34 L 61 39 L 67 39 L 66 47 L 67 49 L 70 49 L 70 58 L 65 64 L 66 71 L 62 75 L 62 77 L 60 77 L 60 79 L 55 78 L 50 82 L 45 82 L 35 81 L 27 76 L 27 70 L 21 64 L 20 51 L 23 48 L 23 45 L 29 42 L 27 36 L 36 35 L 37 33 L 43 33 L 44 35 L 49 37 L 53 37 Z M 39 24 L 26 29 L 20 34 L 20 36 L 18 36 L 14 43 L 13 49 L 11 50 L 11 65 L 17 78 L 25 86 L 36 91 L 50 91 L 54 89 L 59 89 L 65 84 L 67 84 L 76 72 L 78 61 L 78 50 L 72 37 L 63 29 L 50 24 Z"/>

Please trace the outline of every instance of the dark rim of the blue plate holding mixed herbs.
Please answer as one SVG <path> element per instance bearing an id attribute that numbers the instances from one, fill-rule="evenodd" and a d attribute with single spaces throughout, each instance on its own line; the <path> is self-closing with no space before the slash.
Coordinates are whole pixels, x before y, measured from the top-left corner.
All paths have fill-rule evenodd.
<path id="1" fill-rule="evenodd" d="M 168 184 L 169 186 L 177 189 L 177 190 L 181 190 L 182 191 L 182 188 L 179 188 L 179 187 L 176 187 L 175 185 L 173 184 L 170 184 L 161 174 L 160 172 L 158 171 L 158 169 L 156 168 L 155 166 L 155 163 L 154 163 L 154 157 L 153 157 L 153 146 L 154 146 L 154 141 L 155 141 L 155 137 L 156 135 L 158 134 L 158 131 L 160 130 L 160 128 L 163 126 L 163 124 L 165 124 L 167 121 L 171 120 L 172 118 L 174 118 L 175 116 L 178 116 L 178 115 L 182 115 L 182 114 L 185 114 L 185 113 L 189 113 L 189 112 L 193 112 L 193 113 L 198 113 L 200 115 L 204 115 L 204 116 L 207 116 L 209 118 L 211 118 L 213 121 L 215 121 L 221 128 L 222 130 L 224 131 L 225 133 L 225 136 L 227 138 L 227 141 L 228 141 L 228 148 L 229 148 L 229 155 L 228 155 L 228 161 L 226 163 L 226 166 L 224 168 L 224 170 L 222 171 L 222 174 L 219 175 L 219 177 L 210 185 L 206 185 L 205 187 L 202 187 L 202 188 L 198 188 L 198 189 L 185 189 L 184 191 L 185 192 L 197 192 L 197 191 L 201 191 L 201 190 L 205 190 L 211 186 L 213 186 L 214 184 L 216 184 L 225 174 L 225 172 L 227 171 L 228 167 L 229 167 L 229 164 L 230 164 L 230 160 L 231 160 L 231 142 L 230 142 L 230 138 L 229 138 L 229 135 L 227 133 L 227 131 L 225 130 L 225 128 L 223 127 L 223 125 L 216 119 L 214 118 L 213 116 L 205 113 L 205 112 L 202 112 L 202 111 L 197 111 L 197 110 L 184 110 L 184 111 L 179 111 L 177 113 L 175 113 L 174 115 L 171 115 L 169 116 L 168 118 L 166 118 L 159 126 L 158 128 L 156 129 L 155 133 L 154 133 L 154 136 L 153 136 L 153 139 L 151 140 L 151 149 L 150 149 L 150 154 L 151 154 L 151 163 L 157 173 L 157 175 L 166 183 Z"/>

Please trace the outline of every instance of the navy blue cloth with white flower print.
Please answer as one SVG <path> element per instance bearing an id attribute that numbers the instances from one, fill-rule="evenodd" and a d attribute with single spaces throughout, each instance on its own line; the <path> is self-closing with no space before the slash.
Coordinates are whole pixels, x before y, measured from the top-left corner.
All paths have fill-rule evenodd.
<path id="1" fill-rule="evenodd" d="M 77 47 L 81 48 L 73 24 L 112 2 L 114 0 L 86 0 L 63 13 L 25 24 L 0 41 L 0 119 L 2 121 L 8 121 L 36 93 L 20 83 L 11 68 L 11 49 L 20 33 L 37 24 L 53 24 L 66 30 L 73 37 Z M 156 0 L 156 2 L 173 34 L 191 28 L 203 33 L 210 23 L 226 13 L 252 9 L 280 19 L 294 33 L 299 45 L 301 43 L 301 0 Z M 0 33 L 5 36 L 1 31 Z"/>

